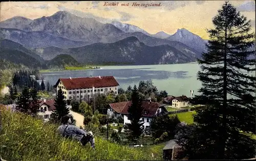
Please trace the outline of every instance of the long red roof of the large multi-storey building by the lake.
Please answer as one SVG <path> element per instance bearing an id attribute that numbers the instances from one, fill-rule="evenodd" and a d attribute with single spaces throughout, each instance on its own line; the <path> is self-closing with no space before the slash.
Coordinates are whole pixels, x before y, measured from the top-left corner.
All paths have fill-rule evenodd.
<path id="1" fill-rule="evenodd" d="M 113 76 L 101 77 L 84 77 L 84 78 L 59 78 L 55 86 L 63 83 L 66 89 L 79 89 L 79 88 L 96 88 L 118 86 L 118 82 Z"/>

